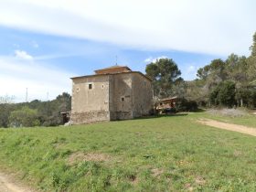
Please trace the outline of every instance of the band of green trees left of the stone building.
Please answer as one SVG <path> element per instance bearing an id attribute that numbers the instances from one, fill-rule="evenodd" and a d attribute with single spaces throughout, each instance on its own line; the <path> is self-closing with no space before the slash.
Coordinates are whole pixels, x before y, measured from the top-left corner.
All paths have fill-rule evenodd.
<path id="1" fill-rule="evenodd" d="M 70 110 L 71 96 L 67 92 L 63 92 L 53 101 L 2 103 L 0 104 L 0 127 L 56 126 L 62 124 L 60 112 Z"/>

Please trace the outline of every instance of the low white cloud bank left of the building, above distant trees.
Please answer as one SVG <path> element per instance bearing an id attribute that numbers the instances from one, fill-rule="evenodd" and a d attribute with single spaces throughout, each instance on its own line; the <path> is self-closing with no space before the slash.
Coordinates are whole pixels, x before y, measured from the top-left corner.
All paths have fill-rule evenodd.
<path id="1" fill-rule="evenodd" d="M 76 76 L 46 64 L 27 60 L 0 57 L 0 96 L 15 96 L 16 102 L 48 99 L 52 100 L 63 91 L 70 93 L 70 77 Z M 49 94 L 49 95 L 48 95 Z"/>

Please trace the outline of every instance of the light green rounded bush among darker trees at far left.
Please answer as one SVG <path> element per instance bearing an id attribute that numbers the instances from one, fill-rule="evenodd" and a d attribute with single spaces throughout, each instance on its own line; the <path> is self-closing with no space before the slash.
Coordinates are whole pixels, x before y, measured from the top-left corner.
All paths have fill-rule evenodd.
<path id="1" fill-rule="evenodd" d="M 33 127 L 40 124 L 37 110 L 28 107 L 11 112 L 9 122 L 12 127 Z"/>

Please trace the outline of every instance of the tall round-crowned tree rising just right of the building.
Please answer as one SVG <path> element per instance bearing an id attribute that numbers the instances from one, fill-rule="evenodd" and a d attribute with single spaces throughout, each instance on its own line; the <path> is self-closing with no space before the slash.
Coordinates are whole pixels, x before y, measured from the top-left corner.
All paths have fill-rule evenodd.
<path id="1" fill-rule="evenodd" d="M 173 59 L 157 59 L 146 66 L 146 75 L 154 83 L 155 96 L 166 97 L 172 94 L 175 83 L 180 83 L 183 79 L 176 62 Z"/>

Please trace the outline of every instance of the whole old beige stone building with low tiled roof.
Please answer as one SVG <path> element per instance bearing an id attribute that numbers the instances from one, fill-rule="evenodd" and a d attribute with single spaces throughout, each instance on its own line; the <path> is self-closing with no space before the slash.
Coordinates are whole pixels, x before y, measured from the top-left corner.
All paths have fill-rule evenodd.
<path id="1" fill-rule="evenodd" d="M 133 119 L 152 109 L 152 80 L 128 67 L 95 70 L 71 80 L 74 124 Z"/>

